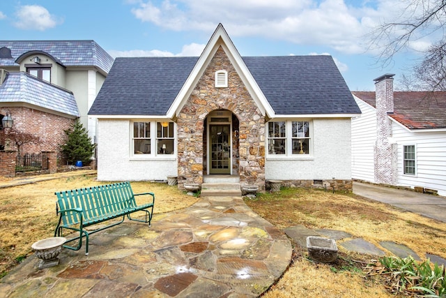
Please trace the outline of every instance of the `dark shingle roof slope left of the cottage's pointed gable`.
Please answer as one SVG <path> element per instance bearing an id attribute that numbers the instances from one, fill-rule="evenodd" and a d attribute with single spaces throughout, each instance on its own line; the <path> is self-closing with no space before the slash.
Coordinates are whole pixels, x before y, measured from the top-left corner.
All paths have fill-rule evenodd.
<path id="1" fill-rule="evenodd" d="M 197 59 L 116 58 L 89 114 L 165 116 Z"/>

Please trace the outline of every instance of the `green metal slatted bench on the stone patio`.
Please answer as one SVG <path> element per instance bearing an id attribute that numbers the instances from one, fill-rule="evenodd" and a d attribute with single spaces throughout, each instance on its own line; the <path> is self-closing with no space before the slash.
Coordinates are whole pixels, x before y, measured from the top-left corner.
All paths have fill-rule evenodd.
<path id="1" fill-rule="evenodd" d="M 79 236 L 66 241 L 68 243 L 79 239 L 77 246 L 63 245 L 63 247 L 79 251 L 82 247 L 82 237 L 85 237 L 85 255 L 89 255 L 89 234 L 118 225 L 124 221 L 125 216 L 131 221 L 141 221 L 148 223 L 149 227 L 151 226 L 155 195 L 153 193 L 134 194 L 128 181 L 79 188 L 71 191 L 60 191 L 55 193 L 55 195 L 57 196 L 56 213 L 59 214 L 59 223 L 54 231 L 54 237 L 62 237 L 64 229 L 79 232 Z M 152 202 L 138 206 L 134 198 L 137 195 L 150 195 Z M 130 217 L 130 214 L 137 211 L 145 212 L 144 220 Z M 121 216 L 123 216 L 121 221 L 92 231 L 84 230 L 84 228 L 91 225 Z"/>

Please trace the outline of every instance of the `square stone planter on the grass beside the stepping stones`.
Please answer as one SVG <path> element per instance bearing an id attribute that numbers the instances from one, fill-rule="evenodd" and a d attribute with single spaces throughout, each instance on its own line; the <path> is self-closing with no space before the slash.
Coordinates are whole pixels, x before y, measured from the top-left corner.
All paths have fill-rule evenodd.
<path id="1" fill-rule="evenodd" d="M 337 245 L 334 239 L 309 236 L 307 237 L 309 256 L 318 262 L 330 263 L 337 258 Z"/>

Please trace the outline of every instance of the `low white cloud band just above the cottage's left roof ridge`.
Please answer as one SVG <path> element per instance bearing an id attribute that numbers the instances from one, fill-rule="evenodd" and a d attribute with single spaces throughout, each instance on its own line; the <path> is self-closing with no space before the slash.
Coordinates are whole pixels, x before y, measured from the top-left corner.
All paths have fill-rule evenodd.
<path id="1" fill-rule="evenodd" d="M 183 45 L 183 49 L 180 53 L 174 54 L 167 51 L 160 50 L 129 50 L 129 51 L 117 51 L 108 50 L 107 52 L 114 58 L 116 57 L 197 57 L 201 55 L 206 45 L 200 45 L 198 43 L 191 43 L 190 45 Z"/>

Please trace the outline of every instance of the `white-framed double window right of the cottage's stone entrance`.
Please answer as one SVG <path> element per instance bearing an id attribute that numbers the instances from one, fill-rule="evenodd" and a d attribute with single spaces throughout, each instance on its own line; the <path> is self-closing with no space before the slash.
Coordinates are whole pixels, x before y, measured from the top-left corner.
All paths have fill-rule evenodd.
<path id="1" fill-rule="evenodd" d="M 310 121 L 268 122 L 268 155 L 309 156 L 311 153 Z"/>

